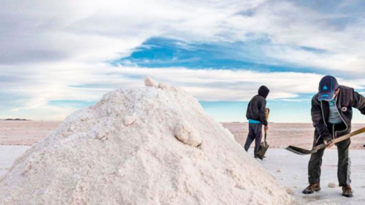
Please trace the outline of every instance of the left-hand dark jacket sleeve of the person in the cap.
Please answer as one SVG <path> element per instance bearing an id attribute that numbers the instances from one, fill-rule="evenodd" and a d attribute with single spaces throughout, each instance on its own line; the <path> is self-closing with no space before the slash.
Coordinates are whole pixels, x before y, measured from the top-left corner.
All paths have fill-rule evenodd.
<path id="1" fill-rule="evenodd" d="M 315 99 L 315 96 L 312 98 L 312 107 L 310 113 L 312 116 L 314 128 L 318 131 L 318 133 L 324 140 L 331 140 L 332 135 L 329 133 L 329 130 L 325 122 L 323 121 L 322 108 L 318 101 Z"/>

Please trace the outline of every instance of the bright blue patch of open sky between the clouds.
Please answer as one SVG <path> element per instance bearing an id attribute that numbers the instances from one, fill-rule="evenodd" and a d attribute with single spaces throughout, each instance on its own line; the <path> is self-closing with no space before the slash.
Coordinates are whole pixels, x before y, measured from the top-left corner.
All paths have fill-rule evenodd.
<path id="1" fill-rule="evenodd" d="M 134 64 L 148 68 L 184 67 L 189 69 L 232 69 L 264 72 L 315 72 L 316 68 L 281 62 L 263 54 L 268 39 L 237 42 L 184 42 L 176 39 L 151 37 L 133 50 L 130 56 L 111 61 L 122 66 Z M 309 47 L 296 49 L 313 53 L 326 51 Z"/>

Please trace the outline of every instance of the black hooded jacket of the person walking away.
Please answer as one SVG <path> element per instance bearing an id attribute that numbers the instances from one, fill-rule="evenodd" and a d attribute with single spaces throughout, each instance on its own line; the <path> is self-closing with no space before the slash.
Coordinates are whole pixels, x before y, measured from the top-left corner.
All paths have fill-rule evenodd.
<path id="1" fill-rule="evenodd" d="M 258 89 L 258 94 L 255 95 L 248 103 L 246 117 L 247 119 L 253 119 L 260 121 L 263 125 L 267 125 L 265 107 L 266 97 L 270 90 L 266 86 L 261 86 Z"/>

